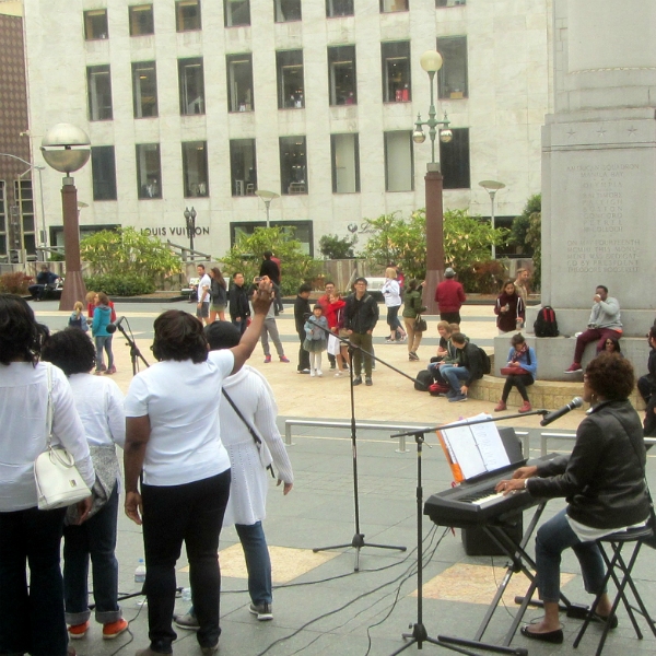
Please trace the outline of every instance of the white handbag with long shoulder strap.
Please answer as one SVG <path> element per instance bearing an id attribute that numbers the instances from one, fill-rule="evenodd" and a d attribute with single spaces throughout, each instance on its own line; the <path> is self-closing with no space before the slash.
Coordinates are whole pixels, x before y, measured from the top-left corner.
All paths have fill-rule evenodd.
<path id="1" fill-rule="evenodd" d="M 52 446 L 52 370 L 48 363 L 48 410 L 46 414 L 48 444 L 34 462 L 34 480 L 38 509 L 51 511 L 73 505 L 87 496 L 91 490 L 80 476 L 73 456 L 61 446 Z"/>

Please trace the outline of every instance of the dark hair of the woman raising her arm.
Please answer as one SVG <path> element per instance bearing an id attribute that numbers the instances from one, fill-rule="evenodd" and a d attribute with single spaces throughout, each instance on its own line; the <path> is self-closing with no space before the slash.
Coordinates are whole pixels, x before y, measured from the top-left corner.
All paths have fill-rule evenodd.
<path id="1" fill-rule="evenodd" d="M 162 313 L 153 324 L 153 355 L 157 360 L 191 360 L 195 364 L 208 359 L 208 342 L 202 324 L 179 309 Z"/>

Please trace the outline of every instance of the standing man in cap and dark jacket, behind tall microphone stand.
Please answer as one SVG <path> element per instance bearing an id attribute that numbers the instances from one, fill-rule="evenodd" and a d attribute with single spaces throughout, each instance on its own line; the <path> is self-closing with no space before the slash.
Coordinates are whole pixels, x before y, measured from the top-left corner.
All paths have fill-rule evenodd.
<path id="1" fill-rule="evenodd" d="M 353 353 L 353 385 L 362 384 L 362 359 L 364 354 L 364 380 L 372 382 L 372 335 L 378 321 L 378 304 L 366 293 L 367 282 L 364 278 L 355 280 L 355 292 L 347 297 L 344 328 L 355 349 Z"/>

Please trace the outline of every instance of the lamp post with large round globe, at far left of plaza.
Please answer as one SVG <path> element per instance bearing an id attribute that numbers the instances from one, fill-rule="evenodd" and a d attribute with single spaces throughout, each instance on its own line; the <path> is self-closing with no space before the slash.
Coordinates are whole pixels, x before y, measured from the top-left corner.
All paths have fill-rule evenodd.
<path id="1" fill-rule="evenodd" d="M 57 124 L 42 140 L 40 151 L 46 163 L 66 173 L 61 187 L 66 279 L 59 309 L 73 309 L 77 301 L 86 296 L 80 262 L 80 224 L 78 222 L 78 189 L 70 176 L 82 168 L 91 155 L 91 141 L 84 130 L 70 124 Z"/>

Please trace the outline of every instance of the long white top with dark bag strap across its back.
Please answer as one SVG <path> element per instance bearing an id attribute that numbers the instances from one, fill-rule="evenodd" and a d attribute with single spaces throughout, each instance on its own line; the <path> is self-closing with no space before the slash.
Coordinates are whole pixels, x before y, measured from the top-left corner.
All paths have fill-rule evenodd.
<path id="1" fill-rule="evenodd" d="M 263 442 L 263 453 L 259 454 L 245 423 L 221 395 L 219 417 L 223 443 L 232 467 L 230 500 L 223 526 L 250 526 L 265 518 L 267 491 L 270 481 L 273 480 L 260 461 L 260 455 L 265 464 L 270 462 L 272 456 L 278 478 L 285 483 L 293 483 L 294 475 L 276 424 L 278 408 L 267 379 L 257 370 L 245 365 L 234 376 L 225 379 L 224 387 L 239 412 Z"/>

